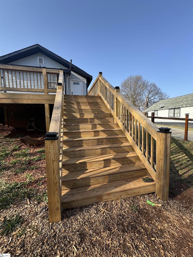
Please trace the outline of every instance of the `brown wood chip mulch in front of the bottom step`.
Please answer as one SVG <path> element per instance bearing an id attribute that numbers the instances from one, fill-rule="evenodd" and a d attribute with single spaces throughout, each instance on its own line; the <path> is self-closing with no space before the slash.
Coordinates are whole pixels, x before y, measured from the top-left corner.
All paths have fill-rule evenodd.
<path id="1" fill-rule="evenodd" d="M 46 190 L 45 183 L 33 187 Z M 0 211 L 0 224 L 16 214 L 23 219 L 22 226 L 0 237 L 0 253 L 11 257 L 193 256 L 193 206 L 183 193 L 167 202 L 148 194 L 63 210 L 62 221 L 53 224 L 46 202 L 24 199 Z M 162 206 L 147 205 L 147 200 Z"/>

